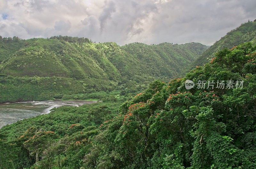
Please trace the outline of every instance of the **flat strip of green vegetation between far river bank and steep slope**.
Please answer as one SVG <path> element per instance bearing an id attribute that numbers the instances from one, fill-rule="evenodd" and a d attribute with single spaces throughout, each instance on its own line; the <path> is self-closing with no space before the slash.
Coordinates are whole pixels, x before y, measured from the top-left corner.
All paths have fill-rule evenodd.
<path id="1" fill-rule="evenodd" d="M 104 99 L 117 82 L 106 80 L 76 80 L 67 77 L 0 76 L 0 103 L 40 101 L 49 99 Z M 120 90 L 119 90 L 120 93 Z M 119 94 L 118 93 L 118 94 Z M 82 96 L 75 96 L 77 94 Z M 117 94 L 116 94 L 117 95 Z M 71 97 L 73 96 L 73 97 Z"/>

